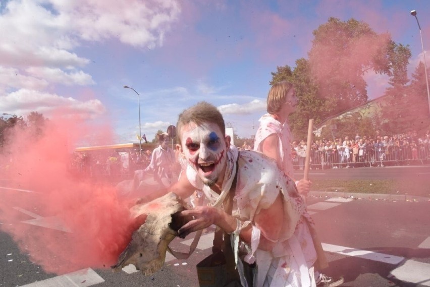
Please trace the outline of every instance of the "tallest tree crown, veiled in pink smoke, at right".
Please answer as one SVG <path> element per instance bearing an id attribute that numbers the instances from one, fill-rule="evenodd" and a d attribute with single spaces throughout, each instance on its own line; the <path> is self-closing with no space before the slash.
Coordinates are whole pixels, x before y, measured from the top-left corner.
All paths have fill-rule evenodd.
<path id="1" fill-rule="evenodd" d="M 334 113 L 367 101 L 365 73 L 372 70 L 392 77 L 393 83 L 407 83 L 410 50 L 396 44 L 388 33 L 377 34 L 367 23 L 355 19 L 329 21 L 313 31 L 309 62 L 320 96 L 332 98 Z"/>

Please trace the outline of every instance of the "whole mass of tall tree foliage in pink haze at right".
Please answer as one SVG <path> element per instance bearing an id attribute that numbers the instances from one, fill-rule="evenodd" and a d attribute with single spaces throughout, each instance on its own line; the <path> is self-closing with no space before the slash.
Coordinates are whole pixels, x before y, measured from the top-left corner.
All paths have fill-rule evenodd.
<path id="1" fill-rule="evenodd" d="M 369 71 L 388 75 L 394 89 L 406 88 L 411 53 L 408 45 L 395 43 L 390 34 L 375 33 L 368 24 L 355 19 L 331 17 L 313 35 L 308 59 L 298 59 L 293 69 L 288 65 L 277 67 L 270 82 L 286 80 L 295 86 L 299 104 L 290 116 L 290 126 L 296 139 L 306 137 L 309 119 L 318 125 L 366 103 L 364 76 Z"/>

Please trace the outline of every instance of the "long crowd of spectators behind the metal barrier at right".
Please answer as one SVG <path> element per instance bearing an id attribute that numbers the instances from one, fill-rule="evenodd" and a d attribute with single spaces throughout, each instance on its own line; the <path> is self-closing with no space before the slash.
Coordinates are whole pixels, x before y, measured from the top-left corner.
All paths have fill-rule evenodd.
<path id="1" fill-rule="evenodd" d="M 423 164 L 430 159 L 430 131 L 421 136 L 416 131 L 391 136 L 377 131 L 373 136 L 316 139 L 310 149 L 310 166 L 316 169 Z M 292 142 L 296 169 L 303 169 L 306 150 L 304 140 Z"/>

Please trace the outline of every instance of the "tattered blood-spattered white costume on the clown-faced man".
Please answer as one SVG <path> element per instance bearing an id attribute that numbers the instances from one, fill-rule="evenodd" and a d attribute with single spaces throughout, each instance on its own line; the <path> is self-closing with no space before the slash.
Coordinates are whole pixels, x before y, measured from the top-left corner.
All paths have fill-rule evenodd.
<path id="1" fill-rule="evenodd" d="M 203 185 L 196 171 L 191 166 L 187 167 L 188 180 L 195 188 L 203 190 L 212 206 L 223 208 L 223 203 L 226 203 L 225 199 L 236 174 L 237 157 L 238 150 L 231 147 L 227 151 L 227 168 L 220 195 Z M 247 286 L 247 283 L 243 276 L 242 262 L 237 255 L 239 248 L 246 250 L 244 261 L 257 264 L 254 269 L 254 286 L 315 286 L 311 266 L 316 259 L 316 253 L 302 216 L 305 203 L 297 195 L 293 181 L 278 171 L 274 160 L 259 152 L 241 151 L 238 164 L 232 211 L 238 223 L 231 240 L 242 285 Z M 267 252 L 257 249 L 263 234 L 254 225 L 254 216 L 261 209 L 270 207 L 279 193 L 282 193 L 284 201 L 284 225 L 279 238 L 264 236 L 276 243 L 274 249 Z M 251 244 L 246 245 L 239 240 L 239 233 L 241 228 L 249 224 L 252 225 L 252 239 Z"/>

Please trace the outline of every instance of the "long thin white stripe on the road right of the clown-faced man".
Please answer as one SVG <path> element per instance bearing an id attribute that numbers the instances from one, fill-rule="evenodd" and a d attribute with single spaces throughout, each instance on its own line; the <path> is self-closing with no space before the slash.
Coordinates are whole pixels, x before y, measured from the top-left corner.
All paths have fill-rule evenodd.
<path id="1" fill-rule="evenodd" d="M 399 264 L 402 262 L 405 258 L 400 256 L 394 256 L 379 252 L 373 252 L 373 251 L 367 251 L 367 250 L 360 250 L 345 246 L 339 246 L 339 245 L 333 245 L 333 244 L 327 244 L 327 243 L 321 243 L 323 245 L 323 249 L 328 252 L 333 252 L 341 255 L 347 255 L 347 256 L 354 256 L 359 258 L 364 258 L 368 260 L 373 261 L 379 261 L 389 264 Z"/>

